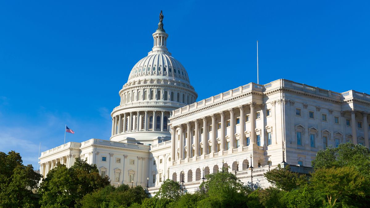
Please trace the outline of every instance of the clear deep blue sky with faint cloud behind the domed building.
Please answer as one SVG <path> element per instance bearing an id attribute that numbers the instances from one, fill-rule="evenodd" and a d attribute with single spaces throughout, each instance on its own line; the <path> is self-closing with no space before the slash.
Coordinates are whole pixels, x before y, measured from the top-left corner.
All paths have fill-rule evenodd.
<path id="1" fill-rule="evenodd" d="M 112 108 L 152 47 L 160 10 L 168 48 L 198 100 L 279 78 L 370 93 L 369 1 L 2 1 L 0 151 L 37 167 L 67 142 L 108 140 Z M 207 77 L 205 79 L 204 77 Z"/>

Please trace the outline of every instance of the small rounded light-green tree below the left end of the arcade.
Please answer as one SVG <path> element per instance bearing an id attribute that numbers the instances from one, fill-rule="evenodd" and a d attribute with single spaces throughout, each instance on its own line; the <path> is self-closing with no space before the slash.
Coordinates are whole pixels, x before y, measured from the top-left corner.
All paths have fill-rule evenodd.
<path id="1" fill-rule="evenodd" d="M 161 188 L 159 188 L 156 196 L 158 196 L 159 198 L 177 200 L 185 191 L 186 189 L 182 187 L 179 182 L 167 179 L 163 182 Z"/>

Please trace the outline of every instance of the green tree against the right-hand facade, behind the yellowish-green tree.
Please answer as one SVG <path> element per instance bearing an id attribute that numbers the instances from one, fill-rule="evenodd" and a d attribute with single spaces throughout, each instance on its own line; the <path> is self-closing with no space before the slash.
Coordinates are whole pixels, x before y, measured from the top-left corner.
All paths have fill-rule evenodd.
<path id="1" fill-rule="evenodd" d="M 312 162 L 314 170 L 331 167 L 353 167 L 370 178 L 370 150 L 360 144 L 344 143 L 337 148 L 320 150 Z"/>

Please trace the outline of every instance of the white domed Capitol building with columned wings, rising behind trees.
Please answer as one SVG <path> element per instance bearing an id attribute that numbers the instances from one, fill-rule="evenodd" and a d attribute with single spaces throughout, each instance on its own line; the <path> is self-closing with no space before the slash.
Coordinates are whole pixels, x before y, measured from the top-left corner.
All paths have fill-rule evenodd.
<path id="1" fill-rule="evenodd" d="M 119 91 L 109 140 L 42 152 L 43 177 L 58 162 L 71 167 L 81 158 L 112 185 L 141 185 L 151 193 L 167 179 L 194 192 L 222 167 L 263 188 L 270 185 L 263 173 L 278 164 L 308 174 L 319 150 L 344 142 L 369 148 L 369 94 L 279 79 L 198 98 L 185 67 L 167 49 L 162 19 L 152 50 Z"/>

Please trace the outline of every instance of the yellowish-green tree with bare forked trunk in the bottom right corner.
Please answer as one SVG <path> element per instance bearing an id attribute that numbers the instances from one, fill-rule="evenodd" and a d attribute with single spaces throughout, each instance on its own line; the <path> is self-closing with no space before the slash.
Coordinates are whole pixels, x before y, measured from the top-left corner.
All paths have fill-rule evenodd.
<path id="1" fill-rule="evenodd" d="M 315 194 L 330 206 L 366 207 L 369 204 L 370 181 L 353 167 L 317 169 L 310 179 Z"/>

